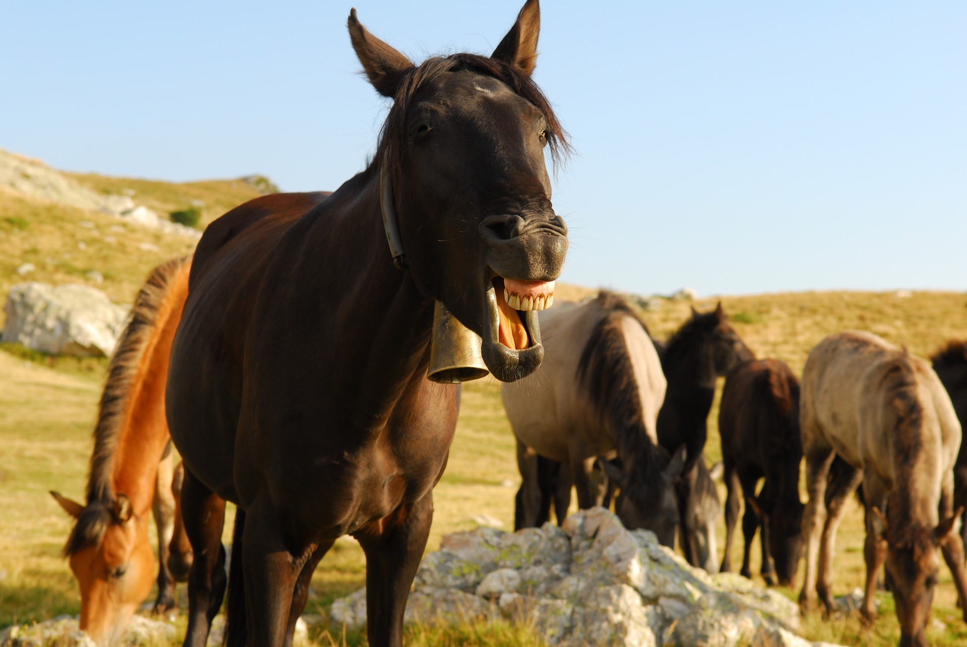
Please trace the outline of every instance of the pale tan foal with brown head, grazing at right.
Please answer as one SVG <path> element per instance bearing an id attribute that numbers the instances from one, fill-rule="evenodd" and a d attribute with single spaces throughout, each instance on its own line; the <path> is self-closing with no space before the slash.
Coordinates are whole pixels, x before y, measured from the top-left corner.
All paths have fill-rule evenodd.
<path id="1" fill-rule="evenodd" d="M 832 604 L 833 545 L 842 508 L 827 518 L 825 495 L 827 473 L 838 455 L 863 471 L 864 618 L 875 617 L 876 576 L 886 562 L 887 585 L 902 630 L 900 644 L 925 645 L 923 632 L 937 586 L 938 546 L 953 574 L 961 607 L 967 603 L 963 541 L 952 532 L 952 470 L 961 429 L 951 398 L 930 365 L 905 349 L 869 333 L 840 333 L 823 339 L 809 353 L 800 422 L 809 493 L 803 518 L 806 581 L 800 604 L 810 606 L 814 592 L 827 609 Z"/>

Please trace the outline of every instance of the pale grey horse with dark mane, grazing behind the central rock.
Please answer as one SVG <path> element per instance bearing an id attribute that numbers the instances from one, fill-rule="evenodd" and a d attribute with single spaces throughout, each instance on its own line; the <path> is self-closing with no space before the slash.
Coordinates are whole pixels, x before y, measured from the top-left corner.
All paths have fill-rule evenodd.
<path id="1" fill-rule="evenodd" d="M 684 447 L 669 459 L 656 426 L 665 393 L 658 353 L 629 305 L 608 292 L 582 305 L 561 304 L 541 318 L 542 367 L 503 388 L 523 478 L 518 525 L 534 525 L 542 507 L 538 456 L 570 466 L 581 509 L 600 504 L 592 483 L 601 467 L 621 488 L 616 510 L 629 528 L 654 531 L 673 546 L 679 523 L 674 484 Z"/>

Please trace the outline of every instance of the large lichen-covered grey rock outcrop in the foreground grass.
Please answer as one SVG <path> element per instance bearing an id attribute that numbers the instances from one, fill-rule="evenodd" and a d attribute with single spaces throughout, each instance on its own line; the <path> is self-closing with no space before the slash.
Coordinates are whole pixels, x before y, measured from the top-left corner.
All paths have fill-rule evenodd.
<path id="1" fill-rule="evenodd" d="M 487 615 L 528 621 L 551 645 L 812 644 L 796 635 L 795 603 L 740 575 L 693 569 L 602 508 L 562 528 L 445 537 L 420 566 L 407 622 Z M 333 603 L 331 619 L 364 626 L 365 589 Z"/>

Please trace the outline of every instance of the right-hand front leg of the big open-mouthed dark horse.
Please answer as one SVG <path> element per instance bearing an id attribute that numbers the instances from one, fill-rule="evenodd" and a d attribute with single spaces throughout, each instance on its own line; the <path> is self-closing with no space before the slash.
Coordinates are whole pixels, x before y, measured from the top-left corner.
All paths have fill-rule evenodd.
<path id="1" fill-rule="evenodd" d="M 433 520 L 433 492 L 354 533 L 366 552 L 366 631 L 373 647 L 401 647 L 403 612 Z"/>

